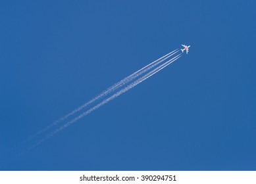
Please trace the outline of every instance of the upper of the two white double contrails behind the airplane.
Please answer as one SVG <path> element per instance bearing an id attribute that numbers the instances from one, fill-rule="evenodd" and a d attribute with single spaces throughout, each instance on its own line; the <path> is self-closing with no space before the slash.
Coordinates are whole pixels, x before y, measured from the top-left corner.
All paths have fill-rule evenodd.
<path id="1" fill-rule="evenodd" d="M 147 64 L 147 66 L 144 66 L 143 68 L 141 68 L 140 70 L 138 70 L 137 72 L 134 72 L 133 74 L 131 74 L 130 76 L 124 78 L 121 81 L 118 81 L 117 83 L 115 83 L 114 85 L 112 85 L 111 87 L 109 87 L 107 90 L 103 91 L 100 95 L 97 95 L 96 97 L 94 97 L 93 99 L 91 99 L 90 101 L 88 101 L 87 103 L 83 104 L 82 106 L 79 106 L 78 108 L 72 110 L 72 112 L 69 112 L 68 114 L 66 114 L 65 116 L 63 116 L 62 118 L 60 118 L 59 120 L 56 120 L 55 122 L 53 122 L 52 124 L 50 124 L 47 127 L 44 127 L 43 129 L 41 129 L 40 131 L 38 131 L 37 133 L 35 133 L 34 135 L 30 136 L 28 138 L 28 140 L 32 139 L 33 137 L 38 136 L 39 134 L 47 131 L 48 129 L 50 129 L 51 127 L 59 124 L 59 122 L 63 122 L 63 120 L 65 120 L 66 118 L 68 118 L 69 116 L 74 115 L 76 112 L 86 108 L 86 106 L 89 106 L 90 104 L 94 103 L 95 101 L 101 99 L 102 97 L 105 97 L 106 95 L 108 95 L 109 93 L 112 93 L 113 91 L 115 91 L 116 89 L 122 87 L 123 85 L 125 85 L 126 83 L 134 80 L 135 78 L 138 78 L 138 76 L 140 76 L 141 74 L 144 74 L 145 72 L 147 72 L 148 70 L 150 70 L 151 68 L 157 66 L 158 64 L 160 64 L 161 62 L 165 61 L 167 58 L 171 57 L 172 55 L 178 53 L 179 49 L 176 49 L 168 54 L 166 54 L 165 56 L 151 62 L 150 64 Z"/>

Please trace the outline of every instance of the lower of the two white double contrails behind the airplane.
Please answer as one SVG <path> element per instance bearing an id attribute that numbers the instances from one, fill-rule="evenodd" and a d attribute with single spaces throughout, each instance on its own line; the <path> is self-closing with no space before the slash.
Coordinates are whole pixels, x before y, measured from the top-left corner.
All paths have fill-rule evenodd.
<path id="1" fill-rule="evenodd" d="M 129 89 L 132 89 L 133 87 L 135 87 L 136 85 L 138 85 L 139 83 L 141 83 L 142 81 L 146 80 L 147 78 L 153 76 L 154 74 L 156 74 L 157 72 L 159 72 L 160 70 L 162 70 L 163 68 L 165 68 L 166 66 L 168 66 L 169 64 L 171 64 L 172 62 L 174 62 L 175 60 L 177 60 L 178 58 L 181 57 L 182 54 L 177 55 L 174 58 L 171 58 L 170 60 L 166 61 L 164 64 L 161 64 L 161 66 L 158 66 L 157 68 L 155 68 L 154 70 L 152 70 L 151 72 L 145 74 L 144 76 L 142 76 L 141 78 L 139 78 L 138 80 L 134 81 L 133 83 L 131 83 L 130 85 L 128 85 L 127 87 L 124 87 L 123 89 L 120 89 L 120 91 L 118 91 L 117 93 L 115 93 L 114 95 L 112 95 L 111 97 L 105 99 L 104 101 L 102 101 L 101 103 L 93 106 L 92 108 L 90 108 L 89 110 L 87 110 L 86 112 L 83 112 L 82 114 L 80 114 L 79 116 L 77 116 L 76 118 L 74 118 L 73 120 L 70 120 L 70 122 L 67 122 L 66 124 L 64 124 L 63 126 L 55 129 L 55 131 L 52 131 L 51 133 L 47 134 L 43 139 L 39 140 L 38 143 L 36 143 L 34 146 L 30 147 L 30 149 L 38 146 L 39 144 L 41 144 L 43 141 L 45 141 L 46 139 L 49 139 L 49 137 L 52 137 L 53 135 L 55 135 L 56 133 L 58 133 L 59 131 L 63 130 L 64 128 L 70 126 L 71 124 L 74 124 L 74 122 L 80 120 L 81 118 L 83 118 L 84 116 L 87 116 L 88 114 L 90 114 L 91 112 L 93 112 L 94 110 L 96 110 L 97 108 L 99 108 L 100 106 L 103 106 L 106 103 L 109 103 L 109 101 L 112 101 L 113 99 L 115 99 L 116 97 L 118 97 L 119 95 L 122 95 L 122 93 L 125 93 L 126 91 L 128 91 Z"/>

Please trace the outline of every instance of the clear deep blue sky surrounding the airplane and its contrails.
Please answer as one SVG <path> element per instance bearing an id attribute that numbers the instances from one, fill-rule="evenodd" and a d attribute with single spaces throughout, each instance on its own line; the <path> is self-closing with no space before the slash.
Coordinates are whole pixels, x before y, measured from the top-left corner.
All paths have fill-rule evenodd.
<path id="1" fill-rule="evenodd" d="M 252 0 L 1 1 L 1 154 L 192 45 L 1 170 L 255 170 L 254 8 Z"/>

